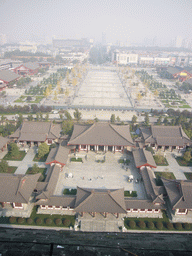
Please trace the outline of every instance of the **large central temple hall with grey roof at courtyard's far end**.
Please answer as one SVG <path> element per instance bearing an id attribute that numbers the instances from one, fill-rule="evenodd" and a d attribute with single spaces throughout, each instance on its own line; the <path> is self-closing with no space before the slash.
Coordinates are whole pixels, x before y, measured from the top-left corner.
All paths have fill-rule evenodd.
<path id="1" fill-rule="evenodd" d="M 79 151 L 95 152 L 123 152 L 135 147 L 128 125 L 109 123 L 75 124 L 68 145 L 77 146 Z"/>

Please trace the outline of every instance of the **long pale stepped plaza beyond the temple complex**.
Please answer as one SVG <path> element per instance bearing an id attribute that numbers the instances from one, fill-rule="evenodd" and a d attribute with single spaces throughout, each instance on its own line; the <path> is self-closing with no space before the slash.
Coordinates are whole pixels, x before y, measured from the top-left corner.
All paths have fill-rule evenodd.
<path id="1" fill-rule="evenodd" d="M 116 72 L 90 70 L 80 86 L 72 105 L 131 107 Z"/>

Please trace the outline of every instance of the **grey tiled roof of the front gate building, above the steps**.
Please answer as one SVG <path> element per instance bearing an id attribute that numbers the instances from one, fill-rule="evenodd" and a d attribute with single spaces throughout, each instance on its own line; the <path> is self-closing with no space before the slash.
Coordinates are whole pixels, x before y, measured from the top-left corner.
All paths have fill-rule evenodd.
<path id="1" fill-rule="evenodd" d="M 76 212 L 126 213 L 124 189 L 86 189 L 77 187 Z"/>

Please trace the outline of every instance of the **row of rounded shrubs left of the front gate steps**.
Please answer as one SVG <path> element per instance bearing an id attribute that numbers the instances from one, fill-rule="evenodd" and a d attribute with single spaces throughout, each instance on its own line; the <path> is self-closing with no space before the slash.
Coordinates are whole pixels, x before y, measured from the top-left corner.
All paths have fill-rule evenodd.
<path id="1" fill-rule="evenodd" d="M 41 225 L 41 224 L 46 224 L 46 225 L 51 225 L 53 223 L 53 220 L 50 218 L 46 218 L 46 219 L 42 219 L 42 218 L 36 218 L 35 220 L 31 219 L 31 218 L 16 218 L 16 217 L 10 217 L 9 218 L 9 223 L 10 224 L 37 224 L 37 225 Z M 69 219 L 54 219 L 54 224 L 57 226 L 60 226 L 61 224 L 63 224 L 63 226 L 65 227 L 69 227 L 71 224 L 71 221 Z"/>

